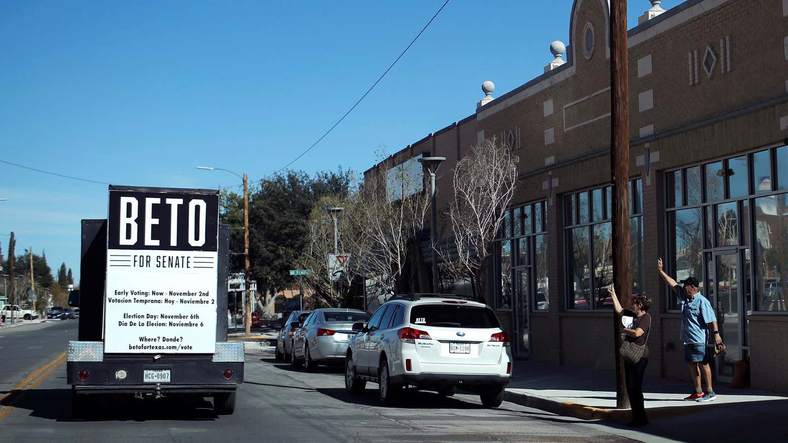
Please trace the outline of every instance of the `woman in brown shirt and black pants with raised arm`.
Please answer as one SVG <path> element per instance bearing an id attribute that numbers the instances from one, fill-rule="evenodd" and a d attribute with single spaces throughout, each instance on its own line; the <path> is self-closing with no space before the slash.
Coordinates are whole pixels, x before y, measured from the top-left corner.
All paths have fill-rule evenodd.
<path id="1" fill-rule="evenodd" d="M 623 329 L 623 333 L 626 334 L 624 340 L 634 341 L 638 345 L 645 345 L 643 356 L 637 363 L 624 363 L 626 393 L 630 397 L 630 407 L 632 408 L 632 421 L 627 423 L 627 426 L 645 426 L 649 424 L 649 419 L 645 416 L 643 404 L 643 375 L 645 374 L 646 365 L 649 364 L 649 346 L 646 343 L 646 339 L 649 337 L 649 329 L 651 329 L 651 315 L 648 313 L 649 307 L 651 307 L 651 299 L 642 294 L 633 294 L 632 310 L 630 311 L 621 307 L 613 285 L 608 286 L 608 291 L 613 299 L 615 312 L 622 316 L 626 315 L 634 318 L 632 329 Z"/>

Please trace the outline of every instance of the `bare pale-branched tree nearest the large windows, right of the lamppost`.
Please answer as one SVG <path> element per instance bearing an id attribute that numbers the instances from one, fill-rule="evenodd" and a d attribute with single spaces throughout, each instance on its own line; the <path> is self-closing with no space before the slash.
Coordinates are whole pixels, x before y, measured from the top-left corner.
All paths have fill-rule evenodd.
<path id="1" fill-rule="evenodd" d="M 471 148 L 454 169 L 454 199 L 449 207 L 455 253 L 441 248 L 444 272 L 471 281 L 474 293 L 485 293 L 489 256 L 504 212 L 515 195 L 517 163 L 511 148 L 494 137 Z"/>

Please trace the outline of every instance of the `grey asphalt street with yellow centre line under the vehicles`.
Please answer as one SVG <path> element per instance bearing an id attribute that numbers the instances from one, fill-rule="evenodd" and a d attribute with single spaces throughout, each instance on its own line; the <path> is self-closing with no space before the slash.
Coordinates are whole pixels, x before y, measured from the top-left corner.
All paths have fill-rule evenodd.
<path id="1" fill-rule="evenodd" d="M 20 326 L 0 336 L 0 441 L 628 441 L 516 404 L 484 408 L 478 396 L 465 393 L 412 392 L 385 407 L 377 385 L 351 396 L 341 368 L 305 373 L 276 362 L 266 348 L 247 352 L 234 415 L 218 417 L 201 397 L 105 396 L 92 404 L 91 415 L 75 419 L 58 356 L 76 338 L 76 321 Z"/>

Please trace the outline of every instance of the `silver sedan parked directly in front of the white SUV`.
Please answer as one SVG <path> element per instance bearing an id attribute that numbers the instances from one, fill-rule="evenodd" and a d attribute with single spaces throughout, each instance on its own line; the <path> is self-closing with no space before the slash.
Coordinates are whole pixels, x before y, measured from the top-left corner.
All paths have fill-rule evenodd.
<path id="1" fill-rule="evenodd" d="M 355 337 L 353 324 L 366 323 L 372 314 L 358 309 L 315 309 L 293 337 L 290 363 L 315 370 L 318 365 L 344 363 L 348 342 Z"/>

